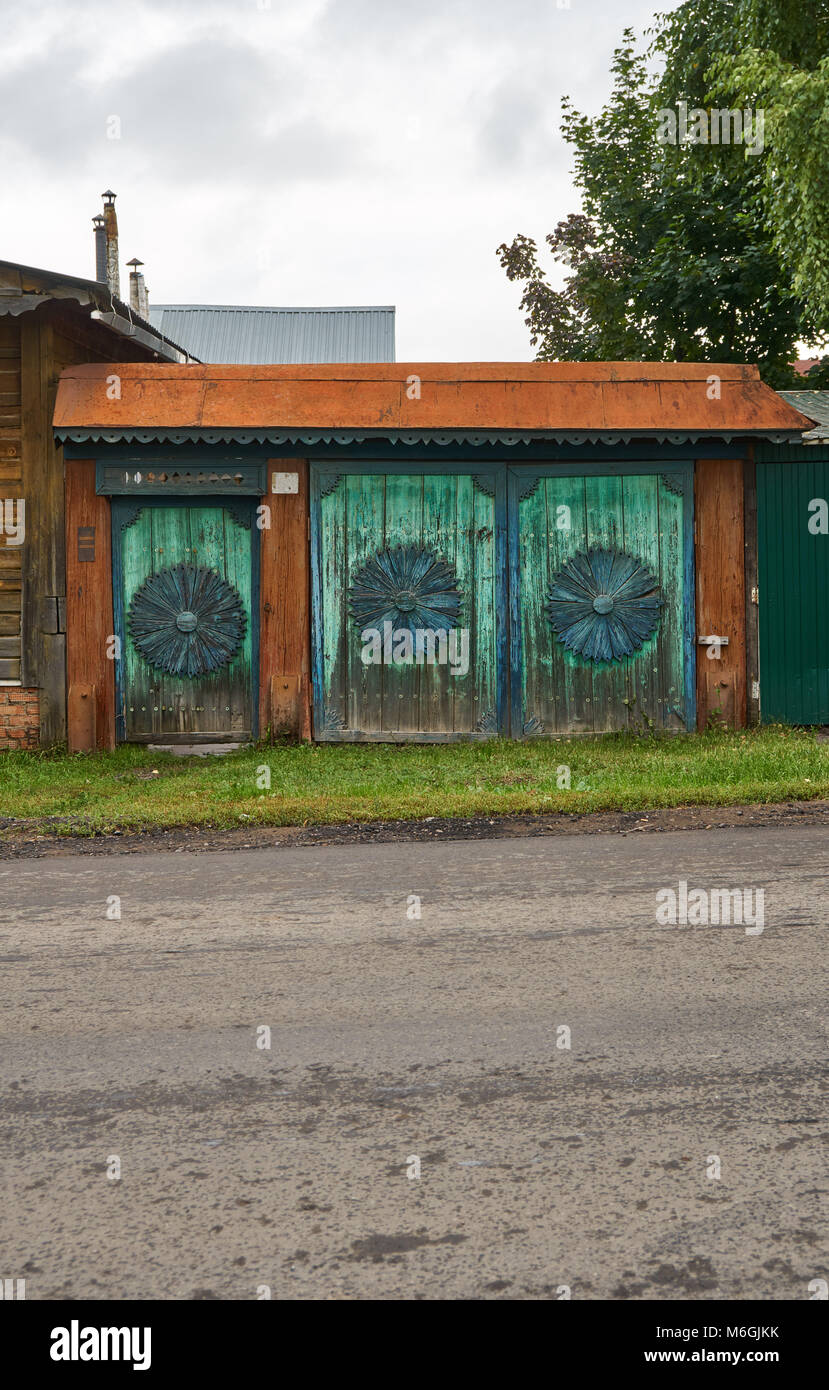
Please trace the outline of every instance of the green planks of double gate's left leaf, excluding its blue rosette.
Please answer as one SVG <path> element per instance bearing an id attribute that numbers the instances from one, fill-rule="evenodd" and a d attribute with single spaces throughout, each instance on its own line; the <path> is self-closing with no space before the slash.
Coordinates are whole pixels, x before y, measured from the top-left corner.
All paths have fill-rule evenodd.
<path id="1" fill-rule="evenodd" d="M 498 730 L 506 624 L 495 493 L 505 475 L 488 473 L 492 495 L 469 473 L 312 468 L 314 737 L 441 741 Z M 399 548 L 449 567 L 448 588 L 460 594 L 453 641 L 469 634 L 467 662 L 459 645 L 453 673 L 446 660 L 362 660 L 353 596 L 366 589 L 367 563 Z M 392 626 L 399 630 L 398 619 Z"/>

